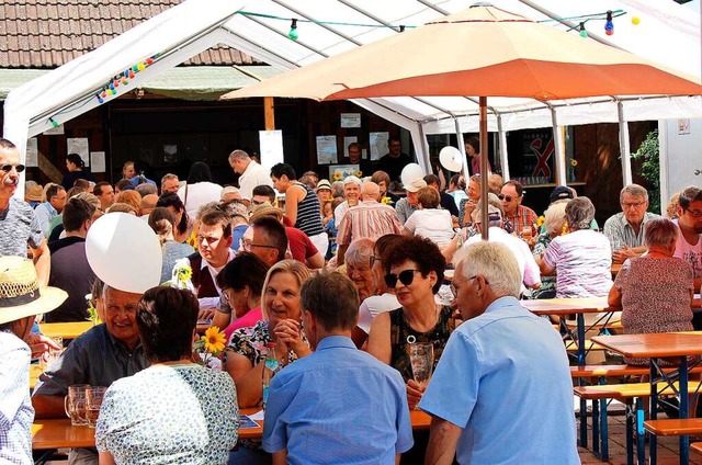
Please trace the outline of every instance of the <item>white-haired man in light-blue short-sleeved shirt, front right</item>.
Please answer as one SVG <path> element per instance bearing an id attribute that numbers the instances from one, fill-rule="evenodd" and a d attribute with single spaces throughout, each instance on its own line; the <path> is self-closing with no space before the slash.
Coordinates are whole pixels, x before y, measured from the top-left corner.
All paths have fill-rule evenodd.
<path id="1" fill-rule="evenodd" d="M 514 257 L 479 242 L 458 259 L 452 290 L 465 322 L 419 402 L 433 417 L 424 463 L 579 464 L 568 358 L 548 320 L 519 304 Z"/>

